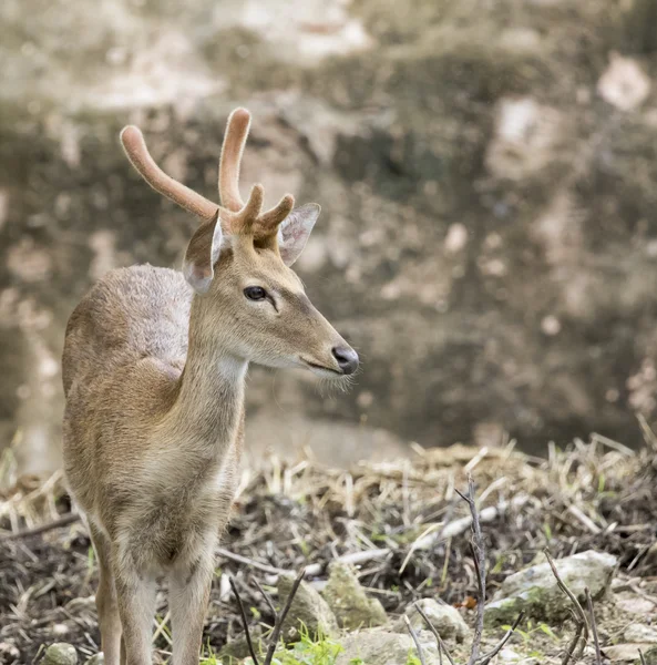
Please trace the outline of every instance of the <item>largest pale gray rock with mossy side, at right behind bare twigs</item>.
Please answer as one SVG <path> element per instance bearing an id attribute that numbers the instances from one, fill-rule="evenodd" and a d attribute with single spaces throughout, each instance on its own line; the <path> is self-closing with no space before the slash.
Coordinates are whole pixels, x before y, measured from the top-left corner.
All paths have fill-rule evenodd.
<path id="1" fill-rule="evenodd" d="M 615 567 L 615 556 L 593 550 L 556 562 L 560 576 L 581 602 L 585 601 L 586 587 L 594 600 L 602 597 Z M 485 620 L 489 625 L 512 623 L 521 610 L 538 621 L 561 620 L 567 616 L 569 607 L 571 601 L 558 589 L 546 562 L 506 577 L 486 605 Z"/>

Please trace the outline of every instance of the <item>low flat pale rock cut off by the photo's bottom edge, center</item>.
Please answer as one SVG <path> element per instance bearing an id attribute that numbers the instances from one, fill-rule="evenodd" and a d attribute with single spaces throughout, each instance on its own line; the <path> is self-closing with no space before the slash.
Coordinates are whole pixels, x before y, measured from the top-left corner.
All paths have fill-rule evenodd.
<path id="1" fill-rule="evenodd" d="M 432 635 L 423 631 L 419 637 L 427 665 L 438 665 L 440 661 Z M 336 665 L 402 665 L 410 654 L 418 653 L 410 635 L 377 628 L 351 633 L 342 642 L 342 648 Z"/>

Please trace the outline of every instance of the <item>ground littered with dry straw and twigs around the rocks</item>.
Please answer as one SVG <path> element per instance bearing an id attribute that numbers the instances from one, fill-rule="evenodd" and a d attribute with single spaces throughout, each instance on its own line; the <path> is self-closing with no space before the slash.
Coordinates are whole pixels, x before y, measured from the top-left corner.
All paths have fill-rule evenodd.
<path id="1" fill-rule="evenodd" d="M 547 459 L 516 452 L 512 441 L 489 449 L 418 449 L 409 461 L 361 463 L 351 471 L 310 460 L 296 466 L 274 460 L 266 471 L 245 473 L 218 552 L 206 648 L 217 653 L 243 633 L 228 576 L 255 630 L 270 625 L 273 616 L 254 577 L 279 602 L 275 590 L 281 572 L 309 566 L 309 581 L 321 587 L 328 563 L 357 552 L 370 553 L 360 563 L 359 580 L 392 618 L 414 600 L 434 597 L 458 607 L 472 625 L 478 586 L 470 530 L 462 522 L 469 512 L 454 491 L 466 490 L 468 473 L 476 483 L 489 597 L 509 574 L 544 561 L 544 548 L 557 560 L 592 549 L 609 552 L 619 570 L 614 591 L 596 602 L 595 612 L 603 646 L 623 642 L 629 624 L 657 618 L 657 440 L 645 431 L 647 443 L 638 451 L 594 436 L 565 450 L 551 446 Z M 2 468 L 10 478 L 9 453 Z M 69 512 L 61 473 L 45 484 L 41 479 L 13 481 L 0 503 L 0 642 L 18 648 L 19 663 L 31 663 L 43 645 L 61 641 L 90 656 L 99 649 L 92 600 L 96 566 L 84 529 L 75 522 L 10 535 Z M 157 621 L 155 646 L 165 658 L 171 638 L 164 593 Z M 572 631 L 569 620 L 524 622 L 509 646 L 551 663 Z M 486 628 L 484 644 L 501 633 Z M 451 648 L 462 662 L 469 643 Z M 588 652 L 585 657 L 593 662 Z"/>

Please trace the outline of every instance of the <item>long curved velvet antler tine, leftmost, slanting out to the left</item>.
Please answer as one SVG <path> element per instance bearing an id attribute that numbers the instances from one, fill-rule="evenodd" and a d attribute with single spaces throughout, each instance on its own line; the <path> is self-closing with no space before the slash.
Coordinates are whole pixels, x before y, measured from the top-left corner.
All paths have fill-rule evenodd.
<path id="1" fill-rule="evenodd" d="M 218 206 L 166 175 L 148 153 L 144 135 L 138 127 L 127 125 L 121 132 L 121 144 L 137 173 L 160 194 L 186 211 L 205 219 L 212 218 Z"/>

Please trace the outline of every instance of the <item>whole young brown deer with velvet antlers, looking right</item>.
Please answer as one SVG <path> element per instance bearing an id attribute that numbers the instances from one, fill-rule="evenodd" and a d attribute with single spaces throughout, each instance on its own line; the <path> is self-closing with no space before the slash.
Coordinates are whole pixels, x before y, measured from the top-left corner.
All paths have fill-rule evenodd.
<path id="1" fill-rule="evenodd" d="M 315 309 L 289 268 L 319 215 L 289 194 L 246 204 L 239 163 L 250 123 L 228 120 L 217 206 L 164 174 L 142 133 L 123 147 L 157 192 L 203 218 L 183 273 L 113 270 L 66 327 L 64 464 L 86 516 L 100 582 L 106 665 L 151 664 L 156 576 L 168 577 L 173 664 L 197 665 L 214 570 L 244 439 L 249 362 L 339 379 L 356 351 Z"/>

